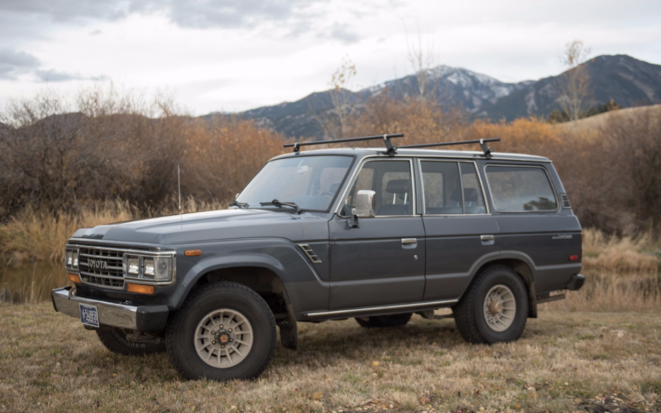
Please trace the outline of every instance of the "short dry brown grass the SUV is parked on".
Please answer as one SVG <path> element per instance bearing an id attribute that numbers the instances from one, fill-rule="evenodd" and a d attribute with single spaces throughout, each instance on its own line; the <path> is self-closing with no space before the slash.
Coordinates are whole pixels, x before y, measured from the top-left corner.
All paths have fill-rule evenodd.
<path id="1" fill-rule="evenodd" d="M 0 412 L 657 412 L 661 317 L 543 310 L 522 338 L 466 344 L 451 319 L 300 324 L 255 381 L 184 381 L 118 356 L 50 303 L 0 304 Z"/>

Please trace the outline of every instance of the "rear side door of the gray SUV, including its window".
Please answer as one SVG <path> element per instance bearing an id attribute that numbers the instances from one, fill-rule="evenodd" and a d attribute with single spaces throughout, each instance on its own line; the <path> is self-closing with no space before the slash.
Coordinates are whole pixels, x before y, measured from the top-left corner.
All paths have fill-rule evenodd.
<path id="1" fill-rule="evenodd" d="M 427 236 L 424 300 L 457 299 L 474 264 L 496 255 L 498 226 L 475 162 L 418 159 Z"/>

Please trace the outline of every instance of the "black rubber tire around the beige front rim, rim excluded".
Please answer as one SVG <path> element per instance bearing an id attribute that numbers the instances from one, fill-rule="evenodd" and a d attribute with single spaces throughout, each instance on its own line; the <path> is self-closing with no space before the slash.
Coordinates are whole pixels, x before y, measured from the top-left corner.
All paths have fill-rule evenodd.
<path id="1" fill-rule="evenodd" d="M 245 358 L 226 368 L 208 365 L 195 349 L 198 324 L 214 310 L 221 308 L 245 315 L 253 334 L 252 347 Z M 264 299 L 245 285 L 236 282 L 206 284 L 193 291 L 184 306 L 177 311 L 167 327 L 165 343 L 172 365 L 186 379 L 254 379 L 267 368 L 273 357 L 276 348 L 276 321 Z M 222 354 L 222 350 L 219 353 Z"/>

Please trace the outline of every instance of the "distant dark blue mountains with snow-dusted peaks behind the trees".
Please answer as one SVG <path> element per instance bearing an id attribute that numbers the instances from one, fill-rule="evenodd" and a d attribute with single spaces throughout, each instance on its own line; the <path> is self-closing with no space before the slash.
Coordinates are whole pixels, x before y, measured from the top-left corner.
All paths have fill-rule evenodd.
<path id="1" fill-rule="evenodd" d="M 590 76 L 591 104 L 614 100 L 622 107 L 661 103 L 661 65 L 637 60 L 629 55 L 601 55 L 583 63 Z M 442 105 L 460 106 L 474 118 L 505 119 L 545 117 L 560 109 L 563 74 L 537 81 L 506 83 L 460 67 L 439 66 L 425 71 L 425 88 Z M 404 99 L 416 95 L 418 77 L 411 74 L 360 91 L 342 90 L 351 105 L 364 105 L 381 93 Z M 319 114 L 332 109 L 332 91 L 315 92 L 295 102 L 257 107 L 240 112 L 243 119 L 254 119 L 259 126 L 284 136 L 323 138 Z M 217 112 L 205 115 L 213 117 Z"/>

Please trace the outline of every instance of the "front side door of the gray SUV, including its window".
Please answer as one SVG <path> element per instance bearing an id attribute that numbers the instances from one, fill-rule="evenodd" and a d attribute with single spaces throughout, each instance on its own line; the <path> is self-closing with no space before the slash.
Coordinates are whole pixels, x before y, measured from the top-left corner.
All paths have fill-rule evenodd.
<path id="1" fill-rule="evenodd" d="M 425 228 L 416 215 L 411 159 L 364 162 L 331 235 L 331 310 L 421 301 Z M 376 217 L 347 223 L 359 190 L 376 192 Z"/>

